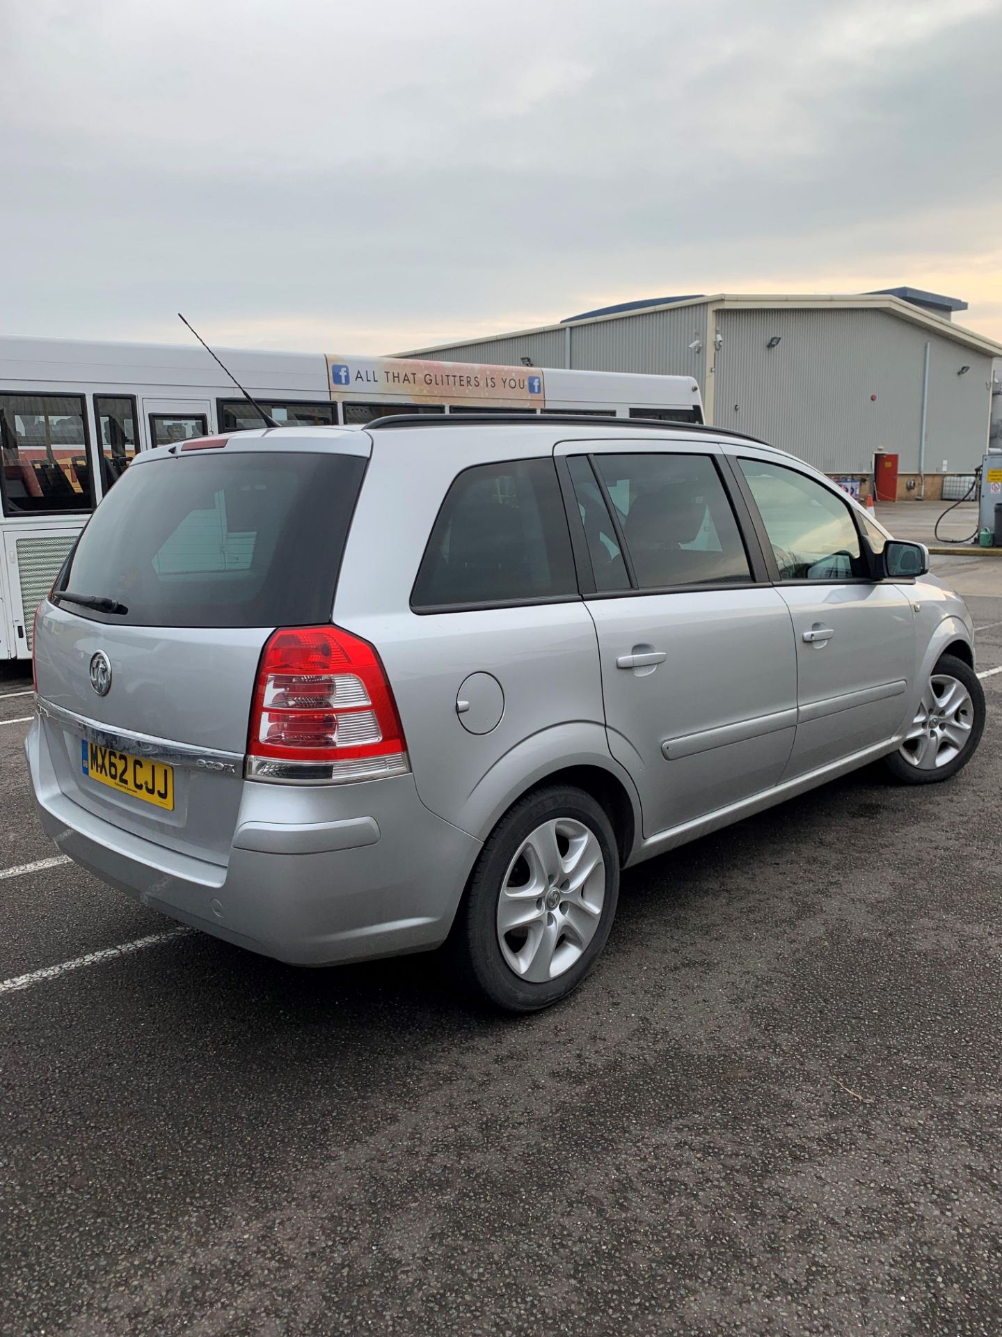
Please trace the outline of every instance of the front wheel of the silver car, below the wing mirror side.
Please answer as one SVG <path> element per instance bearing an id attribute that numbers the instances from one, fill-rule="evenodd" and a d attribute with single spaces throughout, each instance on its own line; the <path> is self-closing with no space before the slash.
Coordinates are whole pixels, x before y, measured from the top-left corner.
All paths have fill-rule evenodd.
<path id="1" fill-rule="evenodd" d="M 902 785 L 951 779 L 978 750 L 985 730 L 985 691 L 963 659 L 942 655 L 929 677 L 907 738 L 884 758 Z"/>

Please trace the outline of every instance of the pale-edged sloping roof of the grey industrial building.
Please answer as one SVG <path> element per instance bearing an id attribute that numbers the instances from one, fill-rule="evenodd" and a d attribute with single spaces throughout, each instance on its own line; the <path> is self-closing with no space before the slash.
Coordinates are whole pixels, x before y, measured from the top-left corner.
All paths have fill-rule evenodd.
<path id="1" fill-rule="evenodd" d="M 679 310 L 684 306 L 709 305 L 717 310 L 876 310 L 886 312 L 899 320 L 908 321 L 925 329 L 953 340 L 966 348 L 986 353 L 989 357 L 1002 357 L 1002 344 L 977 334 L 974 330 L 954 325 L 945 316 L 935 316 L 926 306 L 915 305 L 911 301 L 896 295 L 903 290 L 888 290 L 887 293 L 713 293 L 705 297 L 669 297 L 653 298 L 653 305 L 647 301 L 641 303 L 624 302 L 619 306 L 607 306 L 601 312 L 588 316 L 570 317 L 569 321 L 557 321 L 553 325 L 537 325 L 532 329 L 504 330 L 500 334 L 465 336 L 449 340 L 445 344 L 433 344 L 426 348 L 411 348 L 398 357 L 424 357 L 425 354 L 442 353 L 453 348 L 468 344 L 494 344 L 502 338 L 524 338 L 528 334 L 545 334 L 549 330 L 566 330 L 574 325 L 597 324 L 599 321 L 623 321 L 635 316 L 648 316 L 659 310 Z M 919 293 L 919 289 L 908 289 Z M 935 297 L 937 294 L 930 294 Z M 937 298 L 941 302 L 950 302 L 954 298 Z"/>

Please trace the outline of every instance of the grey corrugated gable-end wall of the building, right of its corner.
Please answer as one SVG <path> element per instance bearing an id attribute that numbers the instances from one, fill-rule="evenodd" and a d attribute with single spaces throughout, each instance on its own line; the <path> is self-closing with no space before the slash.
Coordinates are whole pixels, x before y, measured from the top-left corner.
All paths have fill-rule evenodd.
<path id="1" fill-rule="evenodd" d="M 926 472 L 970 472 L 985 451 L 991 358 L 886 312 L 721 310 L 713 421 L 762 436 L 826 473 L 866 473 L 874 452 L 918 469 L 929 340 Z M 772 336 L 782 342 L 772 350 Z M 958 376 L 961 366 L 970 372 Z M 876 400 L 871 396 L 876 394 Z"/>

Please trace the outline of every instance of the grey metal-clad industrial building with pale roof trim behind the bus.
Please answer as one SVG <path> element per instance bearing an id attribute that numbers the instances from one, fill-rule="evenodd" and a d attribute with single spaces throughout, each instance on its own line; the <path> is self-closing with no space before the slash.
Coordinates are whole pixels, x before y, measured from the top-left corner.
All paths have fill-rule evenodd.
<path id="1" fill-rule="evenodd" d="M 1002 345 L 951 324 L 954 298 L 915 289 L 856 297 L 664 299 L 405 357 L 689 374 L 707 421 L 749 432 L 826 473 L 866 475 L 874 453 L 902 475 L 970 473 L 985 453 L 993 358 Z M 772 341 L 772 344 L 770 342 Z M 926 385 L 926 345 L 929 377 Z M 966 370 L 963 370 L 966 368 Z"/>

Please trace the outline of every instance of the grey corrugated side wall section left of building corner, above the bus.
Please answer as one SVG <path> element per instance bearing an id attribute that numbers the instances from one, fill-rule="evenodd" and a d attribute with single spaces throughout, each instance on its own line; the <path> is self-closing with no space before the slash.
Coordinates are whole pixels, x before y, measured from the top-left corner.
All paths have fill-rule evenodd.
<path id="1" fill-rule="evenodd" d="M 570 365 L 592 372 L 653 372 L 659 376 L 695 376 L 704 389 L 707 306 L 624 316 L 612 321 L 570 328 Z"/>

